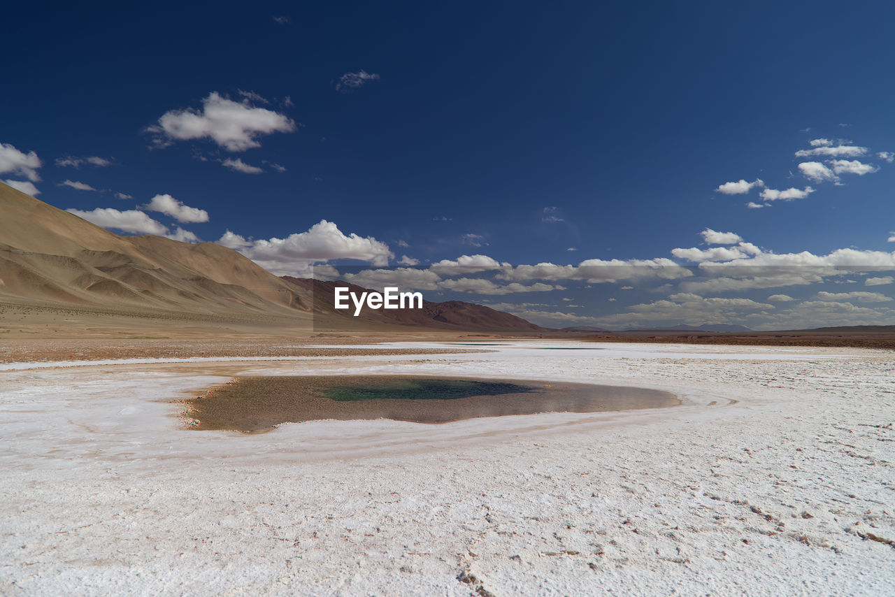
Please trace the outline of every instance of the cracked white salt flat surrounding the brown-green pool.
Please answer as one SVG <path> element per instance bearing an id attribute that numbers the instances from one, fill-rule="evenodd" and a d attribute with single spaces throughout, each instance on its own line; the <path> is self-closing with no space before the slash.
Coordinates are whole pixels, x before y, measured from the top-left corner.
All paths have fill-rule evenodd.
<path id="1" fill-rule="evenodd" d="M 549 345 L 571 344 L 7 367 L 0 593 L 895 593 L 891 353 Z M 319 371 L 584 380 L 685 404 L 241 436 L 183 431 L 165 402 L 233 373 Z"/>

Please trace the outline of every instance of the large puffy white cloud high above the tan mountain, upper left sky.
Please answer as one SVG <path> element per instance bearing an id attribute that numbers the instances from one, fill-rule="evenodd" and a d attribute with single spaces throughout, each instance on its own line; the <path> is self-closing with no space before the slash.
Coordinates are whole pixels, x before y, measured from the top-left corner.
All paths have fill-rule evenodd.
<path id="1" fill-rule="evenodd" d="M 295 128 L 288 116 L 254 107 L 248 98 L 234 101 L 212 91 L 202 99 L 200 110 L 170 110 L 147 130 L 153 133 L 156 147 L 166 147 L 174 141 L 210 139 L 227 151 L 245 151 L 260 147 L 261 135 L 293 132 Z"/>

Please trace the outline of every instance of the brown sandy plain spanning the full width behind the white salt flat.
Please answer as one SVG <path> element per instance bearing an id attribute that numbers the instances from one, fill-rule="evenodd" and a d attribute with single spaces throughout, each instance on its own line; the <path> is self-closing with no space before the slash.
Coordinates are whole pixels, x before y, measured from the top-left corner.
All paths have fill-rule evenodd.
<path id="1" fill-rule="evenodd" d="M 344 321 L 339 322 L 344 327 Z M 827 328 L 752 334 L 693 332 L 614 332 L 605 334 L 546 330 L 537 334 L 456 332 L 419 327 L 371 325 L 313 328 L 309 320 L 273 316 L 233 317 L 150 311 L 67 308 L 0 301 L 0 362 L 248 356 L 349 356 L 371 354 L 345 348 L 387 341 L 488 342 L 499 339 L 553 338 L 589 342 L 659 344 L 840 346 L 895 350 L 895 328 Z M 463 348 L 469 349 L 469 346 Z M 388 349 L 386 349 L 388 350 Z M 458 351 L 460 348 L 457 349 Z M 373 354 L 423 354 L 445 349 L 377 350 Z"/>

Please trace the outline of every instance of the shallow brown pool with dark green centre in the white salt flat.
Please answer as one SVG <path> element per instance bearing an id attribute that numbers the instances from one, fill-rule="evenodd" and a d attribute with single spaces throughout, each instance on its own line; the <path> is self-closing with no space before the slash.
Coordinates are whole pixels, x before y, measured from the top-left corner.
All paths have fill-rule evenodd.
<path id="1" fill-rule="evenodd" d="M 680 404 L 675 395 L 650 388 L 409 375 L 243 377 L 178 402 L 189 429 L 243 433 L 272 431 L 286 422 L 390 419 L 434 424 Z"/>

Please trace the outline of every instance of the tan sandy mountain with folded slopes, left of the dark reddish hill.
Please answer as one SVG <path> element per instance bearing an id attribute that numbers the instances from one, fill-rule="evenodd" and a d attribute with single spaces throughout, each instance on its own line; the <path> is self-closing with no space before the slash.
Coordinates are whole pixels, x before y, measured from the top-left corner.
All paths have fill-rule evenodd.
<path id="1" fill-rule="evenodd" d="M 0 184 L 0 301 L 307 320 L 303 294 L 226 247 L 115 235 Z"/>

